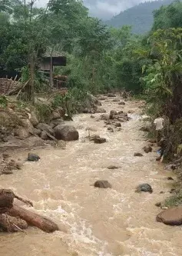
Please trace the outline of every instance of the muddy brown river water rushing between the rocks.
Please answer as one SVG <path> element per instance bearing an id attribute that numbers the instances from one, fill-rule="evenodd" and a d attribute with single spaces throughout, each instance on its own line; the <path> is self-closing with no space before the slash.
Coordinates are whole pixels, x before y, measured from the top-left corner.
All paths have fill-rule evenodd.
<path id="1" fill-rule="evenodd" d="M 111 99 L 103 107 L 121 110 Z M 160 209 L 154 204 L 169 195 L 171 182 L 157 153 L 134 157 L 147 142 L 141 127 L 137 102 L 127 101 L 124 111 L 134 110 L 131 121 L 121 131 L 110 133 L 104 121 L 90 115 L 77 115 L 73 125 L 80 140 L 69 142 L 65 150 L 36 150 L 41 161 L 25 162 L 14 175 L 2 175 L 0 188 L 33 201 L 35 211 L 45 214 L 62 231 L 45 234 L 29 228 L 27 234 L 1 234 L 0 255 L 4 256 L 171 256 L 182 255 L 181 228 L 155 221 Z M 102 145 L 85 140 L 91 135 L 107 138 Z M 14 152 L 24 159 L 28 152 Z M 108 170 L 109 165 L 119 168 Z M 112 188 L 94 188 L 94 181 L 108 180 Z M 153 194 L 134 193 L 141 183 L 149 183 Z M 165 194 L 160 194 L 164 191 Z"/>

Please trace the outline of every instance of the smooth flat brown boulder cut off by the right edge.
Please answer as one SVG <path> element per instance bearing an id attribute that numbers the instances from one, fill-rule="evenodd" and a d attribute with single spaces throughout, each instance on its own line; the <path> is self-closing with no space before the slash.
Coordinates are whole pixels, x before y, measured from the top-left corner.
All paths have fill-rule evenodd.
<path id="1" fill-rule="evenodd" d="M 161 211 L 160 214 L 157 215 L 156 220 L 171 226 L 181 225 L 182 206 L 169 208 L 167 210 Z"/>

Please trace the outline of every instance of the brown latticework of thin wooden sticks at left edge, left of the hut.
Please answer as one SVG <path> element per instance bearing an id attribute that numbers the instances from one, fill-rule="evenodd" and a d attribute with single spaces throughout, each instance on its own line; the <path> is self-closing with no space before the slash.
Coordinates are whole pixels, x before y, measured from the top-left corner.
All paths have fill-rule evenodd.
<path id="1" fill-rule="evenodd" d="M 15 95 L 24 85 L 15 79 L 0 78 L 0 95 Z"/>

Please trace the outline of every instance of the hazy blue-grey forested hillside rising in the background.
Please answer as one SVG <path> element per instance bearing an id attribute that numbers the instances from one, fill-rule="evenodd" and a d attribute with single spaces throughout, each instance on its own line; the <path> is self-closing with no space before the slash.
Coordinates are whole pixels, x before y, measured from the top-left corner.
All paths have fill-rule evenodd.
<path id="1" fill-rule="evenodd" d="M 115 28 L 122 27 L 123 25 L 131 25 L 132 32 L 136 34 L 144 34 L 150 31 L 154 22 L 153 12 L 162 5 L 169 5 L 173 0 L 158 0 L 154 2 L 144 2 L 126 11 L 121 12 L 119 15 L 111 18 L 106 22 L 107 25 L 114 26 Z"/>

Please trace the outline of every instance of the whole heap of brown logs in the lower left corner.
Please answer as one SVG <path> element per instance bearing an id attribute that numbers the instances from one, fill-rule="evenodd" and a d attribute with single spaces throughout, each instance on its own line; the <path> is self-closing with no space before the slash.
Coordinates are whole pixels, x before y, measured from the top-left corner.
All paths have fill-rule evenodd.
<path id="1" fill-rule="evenodd" d="M 10 189 L 0 189 L 0 231 L 23 231 L 28 225 L 40 228 L 45 232 L 58 231 L 58 225 L 39 214 L 19 207 L 14 203 L 18 199 L 33 206 L 31 201 L 19 198 Z"/>

